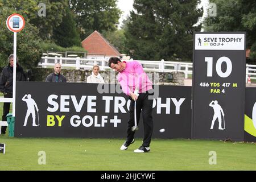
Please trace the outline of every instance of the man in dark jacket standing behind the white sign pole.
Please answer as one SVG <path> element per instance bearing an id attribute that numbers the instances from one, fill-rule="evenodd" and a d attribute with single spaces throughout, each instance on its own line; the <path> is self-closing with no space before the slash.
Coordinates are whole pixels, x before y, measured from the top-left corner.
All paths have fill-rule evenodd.
<path id="1" fill-rule="evenodd" d="M 9 65 L 3 68 L 1 77 L 0 77 L 0 90 L 3 93 L 4 98 L 13 97 L 13 54 L 8 57 Z M 16 81 L 26 81 L 23 68 L 18 64 L 18 57 L 16 57 Z M 6 115 L 10 111 L 10 102 L 5 102 L 3 104 L 3 116 L 2 121 L 7 121 Z M 2 134 L 5 134 L 6 126 L 1 128 Z"/>

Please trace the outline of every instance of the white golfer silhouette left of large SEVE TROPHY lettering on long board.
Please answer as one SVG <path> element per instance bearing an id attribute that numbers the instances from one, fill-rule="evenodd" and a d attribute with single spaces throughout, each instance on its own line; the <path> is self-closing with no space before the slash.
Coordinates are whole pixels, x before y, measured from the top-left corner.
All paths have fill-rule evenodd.
<path id="1" fill-rule="evenodd" d="M 27 113 L 26 113 L 23 126 L 27 126 L 27 119 L 30 116 L 30 114 L 32 114 L 32 119 L 33 119 L 32 126 L 39 126 L 39 113 L 38 113 L 38 125 L 36 125 L 36 113 L 35 113 L 35 109 L 38 112 L 38 106 L 36 105 L 35 100 L 31 98 L 31 94 L 24 95 L 24 97 L 22 98 L 22 101 L 27 103 Z"/>

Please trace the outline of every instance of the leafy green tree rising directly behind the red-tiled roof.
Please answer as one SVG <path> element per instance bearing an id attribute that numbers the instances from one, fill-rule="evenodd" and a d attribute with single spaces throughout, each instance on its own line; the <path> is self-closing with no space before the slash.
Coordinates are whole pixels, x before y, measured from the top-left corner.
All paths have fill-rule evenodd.
<path id="1" fill-rule="evenodd" d="M 117 8 L 117 0 L 69 0 L 69 6 L 75 13 L 80 38 L 85 39 L 93 31 L 114 31 L 117 29 L 121 10 Z"/>

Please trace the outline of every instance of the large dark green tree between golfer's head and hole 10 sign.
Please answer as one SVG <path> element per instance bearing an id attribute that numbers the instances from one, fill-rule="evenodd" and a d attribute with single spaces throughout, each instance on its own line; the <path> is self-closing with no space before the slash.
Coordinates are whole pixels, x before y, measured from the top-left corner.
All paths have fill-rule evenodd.
<path id="1" fill-rule="evenodd" d="M 200 1 L 134 0 L 125 33 L 127 48 L 134 59 L 192 60 L 193 31 L 203 9 Z"/>

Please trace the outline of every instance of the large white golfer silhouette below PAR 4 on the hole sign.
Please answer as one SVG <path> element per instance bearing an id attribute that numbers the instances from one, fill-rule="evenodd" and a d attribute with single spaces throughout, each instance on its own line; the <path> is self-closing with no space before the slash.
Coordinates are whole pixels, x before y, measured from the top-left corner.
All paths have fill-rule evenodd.
<path id="1" fill-rule="evenodd" d="M 213 104 L 214 103 L 214 104 Z M 210 126 L 210 129 L 213 129 L 214 123 L 216 121 L 216 119 L 218 118 L 218 129 L 219 130 L 224 130 L 225 129 L 225 118 L 224 118 L 224 112 L 223 109 L 221 108 L 221 106 L 218 104 L 218 101 L 212 101 L 209 104 L 210 107 L 213 107 L 214 110 L 214 115 L 213 115 L 213 119 L 212 119 L 212 125 Z M 221 119 L 221 113 L 223 116 L 223 121 L 224 121 L 224 128 L 221 127 L 221 123 L 222 123 L 222 119 Z"/>

